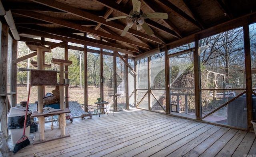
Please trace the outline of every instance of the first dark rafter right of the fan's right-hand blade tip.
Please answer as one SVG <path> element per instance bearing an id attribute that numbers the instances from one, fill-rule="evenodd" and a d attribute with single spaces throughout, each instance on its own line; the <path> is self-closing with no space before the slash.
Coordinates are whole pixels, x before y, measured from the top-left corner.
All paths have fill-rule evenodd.
<path id="1" fill-rule="evenodd" d="M 180 10 L 178 7 L 176 7 L 174 4 L 172 4 L 171 2 L 169 2 L 168 0 L 157 0 L 158 2 L 164 4 L 165 6 L 167 6 L 168 8 L 172 9 L 174 12 L 176 12 L 180 17 L 184 18 L 185 20 L 187 20 L 188 22 L 191 22 L 192 24 L 194 24 L 195 26 L 197 26 L 200 29 L 203 29 L 201 27 L 201 25 L 194 20 L 193 18 L 191 18 L 190 16 L 188 16 L 188 14 L 186 14 L 185 12 L 183 12 L 182 10 Z"/>

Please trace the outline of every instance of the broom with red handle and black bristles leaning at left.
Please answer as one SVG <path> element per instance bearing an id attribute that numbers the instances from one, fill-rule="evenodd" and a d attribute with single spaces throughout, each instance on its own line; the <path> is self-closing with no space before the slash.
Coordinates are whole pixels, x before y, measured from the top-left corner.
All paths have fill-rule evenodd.
<path id="1" fill-rule="evenodd" d="M 28 100 L 29 100 L 29 95 L 30 95 L 30 87 L 31 87 L 31 85 L 29 85 L 29 89 L 28 89 Z M 27 114 L 28 114 L 28 101 L 27 101 L 27 106 L 26 106 L 26 115 L 25 115 L 25 121 L 24 121 L 23 135 L 16 142 L 14 150 L 13 150 L 12 153 L 17 153 L 17 151 L 19 151 L 20 149 L 30 145 L 30 141 L 29 141 L 28 137 L 25 135 L 26 122 L 27 122 L 27 116 L 28 116 Z"/>

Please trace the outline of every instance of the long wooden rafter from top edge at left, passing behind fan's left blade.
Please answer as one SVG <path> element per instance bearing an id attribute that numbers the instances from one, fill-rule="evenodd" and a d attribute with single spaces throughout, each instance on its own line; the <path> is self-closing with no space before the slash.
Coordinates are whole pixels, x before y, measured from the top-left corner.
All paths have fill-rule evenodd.
<path id="1" fill-rule="evenodd" d="M 115 29 L 118 29 L 118 30 L 124 30 L 124 28 L 125 28 L 125 26 L 123 26 L 121 24 L 118 24 L 118 23 L 112 22 L 112 21 L 106 22 L 106 19 L 104 19 L 102 17 L 96 16 L 94 14 L 91 14 L 90 12 L 86 12 L 86 11 L 80 10 L 78 8 L 74 8 L 74 7 L 71 7 L 69 5 L 57 2 L 55 0 L 31 0 L 31 1 L 36 2 L 36 3 L 40 3 L 40 4 L 43 4 L 43 5 L 52 7 L 52 8 L 56 8 L 56 9 L 59 9 L 59 10 L 65 11 L 65 12 L 68 12 L 70 14 L 74 14 L 74 15 L 79 16 L 81 18 L 85 18 L 87 20 L 92 20 L 94 22 L 98 22 L 100 24 L 104 24 L 106 26 L 109 26 L 109 27 L 112 27 L 112 28 L 115 28 Z M 122 8 L 124 8 L 124 7 L 122 7 Z M 128 32 L 130 34 L 135 35 L 135 36 L 140 36 L 140 37 L 145 38 L 147 40 L 151 40 L 152 42 L 162 44 L 157 38 L 153 38 L 153 37 L 148 36 L 147 34 L 144 34 L 142 32 L 138 32 L 138 31 L 134 31 L 134 30 L 129 30 Z M 90 32 L 88 32 L 88 33 L 90 33 Z M 100 33 L 97 33 L 96 35 L 99 35 L 99 34 Z M 104 37 L 104 36 L 102 36 L 102 37 Z"/>

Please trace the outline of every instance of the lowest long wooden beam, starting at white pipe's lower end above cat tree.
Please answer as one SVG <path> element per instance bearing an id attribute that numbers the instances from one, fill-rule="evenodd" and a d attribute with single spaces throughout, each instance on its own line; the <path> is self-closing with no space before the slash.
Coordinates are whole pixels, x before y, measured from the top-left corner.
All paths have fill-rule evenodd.
<path id="1" fill-rule="evenodd" d="M 48 33 L 40 32 L 40 31 L 36 31 L 36 30 L 30 30 L 28 28 L 19 28 L 19 32 L 24 33 L 24 34 L 33 34 L 33 35 L 41 36 L 44 38 L 51 38 L 51 39 L 62 40 L 62 41 L 66 41 L 66 42 L 72 42 L 72 43 L 76 43 L 76 44 L 104 48 L 104 49 L 108 49 L 108 50 L 122 52 L 124 54 L 131 54 L 133 56 L 136 56 L 138 54 L 138 52 L 134 52 L 134 49 L 131 49 L 131 48 L 123 47 L 123 46 L 120 46 L 117 44 L 112 44 L 111 46 L 108 46 L 108 45 L 110 45 L 109 43 L 107 45 L 105 45 L 106 42 L 92 40 L 90 38 L 85 38 L 83 36 L 80 36 L 80 38 L 83 38 L 83 39 L 76 39 L 76 38 L 71 38 L 71 37 L 64 37 L 64 36 L 59 36 L 59 35 L 48 34 Z M 75 34 L 73 34 L 73 35 L 75 36 Z M 76 35 L 76 37 L 78 37 L 78 35 Z M 129 51 L 129 50 L 131 50 L 131 51 Z"/>

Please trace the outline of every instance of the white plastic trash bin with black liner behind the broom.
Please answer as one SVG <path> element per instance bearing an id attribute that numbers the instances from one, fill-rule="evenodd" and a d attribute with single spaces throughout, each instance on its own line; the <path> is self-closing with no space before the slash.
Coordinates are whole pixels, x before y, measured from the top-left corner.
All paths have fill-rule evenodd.
<path id="1" fill-rule="evenodd" d="M 30 115 L 32 112 L 28 110 L 28 115 Z M 18 116 L 25 116 L 26 115 L 26 107 L 16 106 L 11 107 L 9 113 L 7 114 L 7 117 L 18 117 Z M 23 135 L 23 129 L 9 129 L 9 133 L 11 135 L 12 139 L 12 145 L 14 146 L 16 142 L 22 137 Z M 30 126 L 26 127 L 25 135 L 29 137 L 30 134 Z"/>

